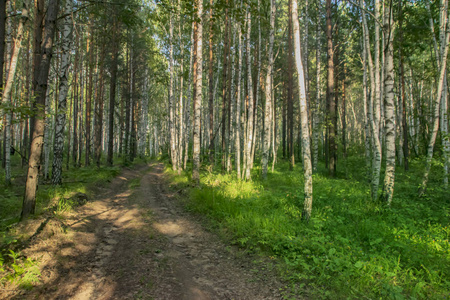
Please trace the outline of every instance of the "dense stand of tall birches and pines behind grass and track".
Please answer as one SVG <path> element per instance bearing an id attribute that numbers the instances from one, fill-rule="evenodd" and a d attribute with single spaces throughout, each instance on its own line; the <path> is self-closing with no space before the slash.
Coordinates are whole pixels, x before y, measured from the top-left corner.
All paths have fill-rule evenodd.
<path id="1" fill-rule="evenodd" d="M 5 182 L 20 150 L 24 216 L 39 173 L 64 183 L 64 160 L 162 156 L 198 184 L 206 161 L 270 180 L 281 157 L 303 171 L 305 219 L 312 172 L 346 176 L 363 153 L 373 201 L 394 201 L 396 166 L 414 158 L 422 194 L 433 159 L 447 187 L 448 32 L 447 0 L 2 2 Z"/>

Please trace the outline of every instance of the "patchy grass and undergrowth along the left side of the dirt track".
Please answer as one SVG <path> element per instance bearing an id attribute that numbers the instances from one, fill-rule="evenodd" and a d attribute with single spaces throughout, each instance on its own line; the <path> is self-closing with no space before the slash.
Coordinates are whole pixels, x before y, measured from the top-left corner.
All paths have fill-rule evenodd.
<path id="1" fill-rule="evenodd" d="M 41 180 L 36 195 L 36 213 L 32 218 L 40 219 L 44 215 L 60 216 L 61 213 L 78 206 L 80 199 L 74 195 L 91 197 L 90 187 L 107 184 L 117 176 L 120 167 L 85 167 L 63 170 L 63 184 L 53 186 L 48 180 Z M 20 250 L 14 251 L 28 238 L 12 229 L 20 220 L 26 168 L 20 167 L 18 157 L 12 159 L 12 184 L 4 185 L 4 172 L 0 175 L 0 285 L 14 283 L 23 289 L 30 289 L 39 280 L 38 262 L 26 258 Z"/>

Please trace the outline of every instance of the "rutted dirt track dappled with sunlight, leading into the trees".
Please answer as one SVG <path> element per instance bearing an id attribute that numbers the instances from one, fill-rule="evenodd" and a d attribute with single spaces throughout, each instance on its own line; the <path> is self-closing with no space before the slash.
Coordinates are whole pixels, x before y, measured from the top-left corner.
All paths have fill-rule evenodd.
<path id="1" fill-rule="evenodd" d="M 39 282 L 0 288 L 0 298 L 282 298 L 274 265 L 203 227 L 163 169 L 159 162 L 126 168 L 92 201 L 45 223 L 21 252 L 39 262 Z"/>

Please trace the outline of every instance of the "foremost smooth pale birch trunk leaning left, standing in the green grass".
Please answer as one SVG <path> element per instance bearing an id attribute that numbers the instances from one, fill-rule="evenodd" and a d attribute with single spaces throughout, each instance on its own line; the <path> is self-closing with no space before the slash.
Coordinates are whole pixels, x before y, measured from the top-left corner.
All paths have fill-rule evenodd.
<path id="1" fill-rule="evenodd" d="M 302 160 L 303 160 L 303 176 L 304 176 L 304 195 L 305 202 L 303 206 L 302 219 L 308 221 L 311 217 L 313 185 L 312 185 L 312 165 L 311 165 L 311 148 L 309 145 L 309 122 L 308 107 L 306 102 L 306 86 L 305 76 L 302 62 L 301 46 L 300 46 L 300 26 L 298 23 L 298 7 L 297 0 L 292 0 L 292 21 L 295 45 L 295 66 L 298 74 L 298 90 L 300 119 L 302 131 Z"/>

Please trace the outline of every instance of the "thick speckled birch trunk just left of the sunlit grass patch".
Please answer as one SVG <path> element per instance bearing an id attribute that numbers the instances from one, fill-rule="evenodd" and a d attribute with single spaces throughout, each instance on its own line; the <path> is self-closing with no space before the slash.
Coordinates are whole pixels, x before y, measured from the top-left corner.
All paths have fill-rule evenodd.
<path id="1" fill-rule="evenodd" d="M 203 25 L 202 25 L 202 15 L 203 15 L 203 1 L 197 0 L 197 55 L 195 60 L 197 61 L 197 74 L 195 76 L 195 95 L 194 95 L 194 151 L 193 151 L 193 168 L 192 168 L 192 179 L 194 182 L 200 184 L 200 114 L 201 114 L 201 103 L 202 103 L 202 51 L 203 51 Z"/>

